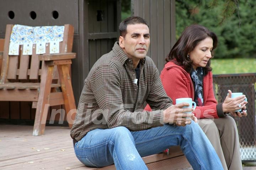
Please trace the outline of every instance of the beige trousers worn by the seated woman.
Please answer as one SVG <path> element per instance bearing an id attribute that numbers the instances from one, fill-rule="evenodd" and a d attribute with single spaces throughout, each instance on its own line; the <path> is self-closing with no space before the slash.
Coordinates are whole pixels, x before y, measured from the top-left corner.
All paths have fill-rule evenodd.
<path id="1" fill-rule="evenodd" d="M 235 120 L 230 116 L 218 119 L 198 119 L 198 124 L 212 143 L 224 170 L 242 170 Z"/>

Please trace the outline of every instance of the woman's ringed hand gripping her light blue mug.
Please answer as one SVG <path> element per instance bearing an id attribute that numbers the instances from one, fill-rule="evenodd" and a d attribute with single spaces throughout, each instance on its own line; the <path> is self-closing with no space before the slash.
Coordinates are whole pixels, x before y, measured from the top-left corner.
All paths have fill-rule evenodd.
<path id="1" fill-rule="evenodd" d="M 248 102 L 245 101 L 245 95 L 231 98 L 231 94 L 232 94 L 231 90 L 228 90 L 228 92 L 229 92 L 228 96 L 226 96 L 226 98 L 222 104 L 223 112 L 230 112 L 230 113 L 233 112 L 234 113 L 236 110 L 246 108 L 245 104 L 247 104 Z"/>

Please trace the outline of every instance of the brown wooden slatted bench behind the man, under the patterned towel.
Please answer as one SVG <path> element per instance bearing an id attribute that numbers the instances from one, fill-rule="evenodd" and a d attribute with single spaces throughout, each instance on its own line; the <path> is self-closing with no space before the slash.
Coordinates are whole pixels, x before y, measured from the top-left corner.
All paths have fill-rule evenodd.
<path id="1" fill-rule="evenodd" d="M 9 44 L 14 25 L 6 26 L 4 50 L 0 52 L 0 101 L 32 101 L 36 108 L 33 135 L 44 133 L 49 106 L 65 105 L 69 127 L 72 127 L 76 105 L 70 77 L 71 53 L 74 27 L 65 24 L 63 41 L 59 42 L 59 53 L 50 54 L 50 43 L 46 43 L 46 53 L 36 54 L 33 44 L 32 55 L 22 55 L 23 45 L 19 45 L 19 55 L 9 55 Z M 68 114 L 69 113 L 69 114 Z"/>

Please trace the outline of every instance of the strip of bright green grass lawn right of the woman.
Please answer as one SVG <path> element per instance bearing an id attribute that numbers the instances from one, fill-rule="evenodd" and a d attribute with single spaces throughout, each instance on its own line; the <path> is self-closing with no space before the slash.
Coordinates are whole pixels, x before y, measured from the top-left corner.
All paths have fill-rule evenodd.
<path id="1" fill-rule="evenodd" d="M 256 58 L 212 59 L 213 74 L 256 73 Z"/>

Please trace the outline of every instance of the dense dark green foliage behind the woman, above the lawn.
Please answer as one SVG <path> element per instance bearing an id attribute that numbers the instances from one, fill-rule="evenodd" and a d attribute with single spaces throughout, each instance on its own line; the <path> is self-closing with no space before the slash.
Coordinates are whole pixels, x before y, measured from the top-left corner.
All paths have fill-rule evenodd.
<path id="1" fill-rule="evenodd" d="M 256 58 L 255 0 L 176 0 L 176 38 L 191 24 L 217 34 L 215 58 Z"/>

